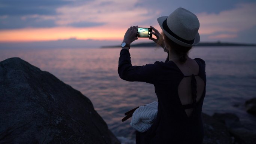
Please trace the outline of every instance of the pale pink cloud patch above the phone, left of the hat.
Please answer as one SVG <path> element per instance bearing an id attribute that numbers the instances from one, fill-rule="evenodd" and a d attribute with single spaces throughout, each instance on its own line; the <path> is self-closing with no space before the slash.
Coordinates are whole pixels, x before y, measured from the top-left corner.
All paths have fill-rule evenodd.
<path id="1" fill-rule="evenodd" d="M 157 17 L 159 10 L 147 7 L 134 7 L 137 0 L 111 1 L 101 4 L 102 0 L 89 1 L 79 6 L 63 6 L 57 9 L 56 24 L 63 26 L 76 22 L 104 23 L 105 27 L 126 28 L 138 21 L 145 21 Z M 115 6 L 115 7 L 113 7 Z M 152 15 L 148 15 L 152 13 Z"/>

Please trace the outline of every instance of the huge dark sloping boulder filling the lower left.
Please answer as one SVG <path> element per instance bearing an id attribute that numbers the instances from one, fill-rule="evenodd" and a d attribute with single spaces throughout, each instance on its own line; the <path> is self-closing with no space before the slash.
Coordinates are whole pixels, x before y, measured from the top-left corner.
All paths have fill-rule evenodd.
<path id="1" fill-rule="evenodd" d="M 1 144 L 119 144 L 92 102 L 20 58 L 0 62 Z"/>

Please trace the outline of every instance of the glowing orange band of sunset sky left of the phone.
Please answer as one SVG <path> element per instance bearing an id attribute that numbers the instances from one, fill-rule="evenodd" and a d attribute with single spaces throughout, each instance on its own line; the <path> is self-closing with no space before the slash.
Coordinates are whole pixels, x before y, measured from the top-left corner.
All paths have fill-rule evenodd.
<path id="1" fill-rule="evenodd" d="M 126 28 L 24 28 L 16 30 L 1 30 L 0 42 L 32 42 L 48 40 L 94 39 L 94 40 L 121 40 Z"/>

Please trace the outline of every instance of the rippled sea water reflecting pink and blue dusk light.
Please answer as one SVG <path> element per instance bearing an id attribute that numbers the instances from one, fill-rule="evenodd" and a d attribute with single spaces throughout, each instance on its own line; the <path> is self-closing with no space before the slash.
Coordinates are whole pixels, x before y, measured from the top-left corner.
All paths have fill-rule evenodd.
<path id="1" fill-rule="evenodd" d="M 120 48 L 0 49 L 0 61 L 20 57 L 91 99 L 109 129 L 124 143 L 134 143 L 130 120 L 124 113 L 138 105 L 156 101 L 153 85 L 126 82 L 119 78 Z M 133 65 L 165 61 L 161 48 L 131 48 Z M 256 118 L 246 113 L 244 102 L 256 97 L 256 47 L 194 47 L 189 56 L 206 63 L 206 96 L 202 111 L 207 114 L 235 113 L 242 122 Z"/>

